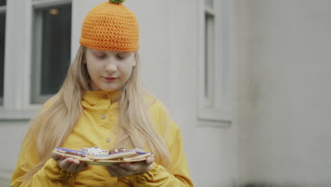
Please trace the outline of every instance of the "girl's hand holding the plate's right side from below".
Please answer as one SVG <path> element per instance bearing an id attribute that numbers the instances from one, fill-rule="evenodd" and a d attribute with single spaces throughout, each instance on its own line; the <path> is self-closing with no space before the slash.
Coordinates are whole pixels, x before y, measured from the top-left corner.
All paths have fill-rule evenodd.
<path id="1" fill-rule="evenodd" d="M 110 176 L 125 177 L 133 176 L 139 174 L 145 174 L 149 169 L 151 169 L 151 164 L 153 164 L 154 158 L 147 157 L 145 161 L 141 162 L 126 162 L 120 164 L 112 164 L 107 166 L 107 170 Z"/>

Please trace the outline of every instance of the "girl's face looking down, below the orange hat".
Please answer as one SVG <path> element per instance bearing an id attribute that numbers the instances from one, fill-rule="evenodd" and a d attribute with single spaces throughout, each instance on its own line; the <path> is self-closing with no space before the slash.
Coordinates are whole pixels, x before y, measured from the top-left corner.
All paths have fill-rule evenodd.
<path id="1" fill-rule="evenodd" d="M 134 52 L 115 52 L 86 48 L 85 61 L 92 91 L 120 90 L 136 65 Z"/>

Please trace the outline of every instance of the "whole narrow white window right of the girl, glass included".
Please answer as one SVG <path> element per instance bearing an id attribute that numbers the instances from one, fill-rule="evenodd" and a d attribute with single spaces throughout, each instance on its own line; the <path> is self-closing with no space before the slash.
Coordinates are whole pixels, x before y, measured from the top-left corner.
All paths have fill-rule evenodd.
<path id="1" fill-rule="evenodd" d="M 231 0 L 199 0 L 199 124 L 231 124 Z"/>

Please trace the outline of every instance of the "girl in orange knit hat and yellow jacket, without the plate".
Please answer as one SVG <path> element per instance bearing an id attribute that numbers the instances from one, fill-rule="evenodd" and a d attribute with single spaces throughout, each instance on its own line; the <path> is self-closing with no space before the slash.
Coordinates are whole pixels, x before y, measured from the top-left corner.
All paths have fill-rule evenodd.
<path id="1" fill-rule="evenodd" d="M 92 8 L 62 88 L 30 121 L 11 186 L 193 186 L 178 126 L 141 85 L 138 40 L 121 2 Z M 137 147 L 154 157 L 93 166 L 54 147 Z"/>

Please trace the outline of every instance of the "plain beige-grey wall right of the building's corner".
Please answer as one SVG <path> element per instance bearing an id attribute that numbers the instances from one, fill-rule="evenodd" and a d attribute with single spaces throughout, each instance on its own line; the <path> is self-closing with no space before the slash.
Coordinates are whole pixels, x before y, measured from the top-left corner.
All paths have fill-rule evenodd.
<path id="1" fill-rule="evenodd" d="M 331 1 L 237 1 L 240 181 L 331 186 Z"/>

